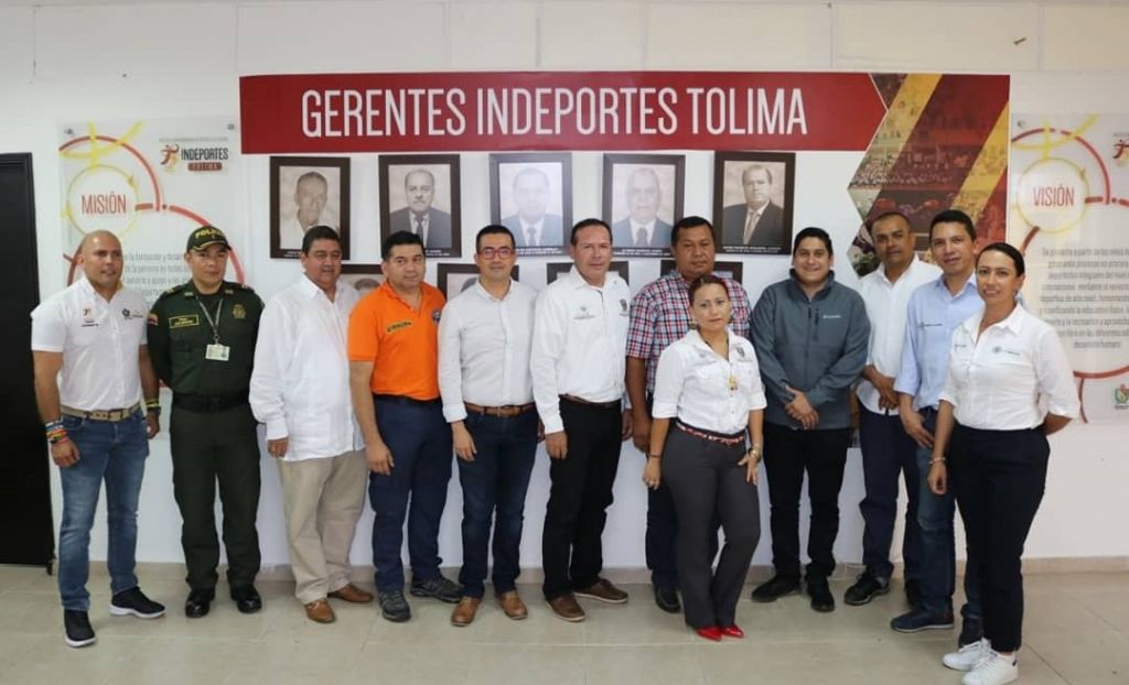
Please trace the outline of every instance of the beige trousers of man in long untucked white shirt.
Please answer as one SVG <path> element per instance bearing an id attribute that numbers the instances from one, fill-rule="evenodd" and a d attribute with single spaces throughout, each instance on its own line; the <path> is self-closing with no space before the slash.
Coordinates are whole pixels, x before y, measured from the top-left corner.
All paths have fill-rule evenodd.
<path id="1" fill-rule="evenodd" d="M 309 604 L 349 583 L 368 465 L 364 451 L 278 465 L 295 596 Z"/>

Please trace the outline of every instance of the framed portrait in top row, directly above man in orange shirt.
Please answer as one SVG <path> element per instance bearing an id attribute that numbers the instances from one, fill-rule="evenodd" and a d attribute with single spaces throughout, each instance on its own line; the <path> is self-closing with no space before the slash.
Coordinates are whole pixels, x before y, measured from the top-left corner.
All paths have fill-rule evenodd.
<path id="1" fill-rule="evenodd" d="M 429 257 L 463 254 L 458 155 L 382 155 L 380 243 L 405 230 Z"/>

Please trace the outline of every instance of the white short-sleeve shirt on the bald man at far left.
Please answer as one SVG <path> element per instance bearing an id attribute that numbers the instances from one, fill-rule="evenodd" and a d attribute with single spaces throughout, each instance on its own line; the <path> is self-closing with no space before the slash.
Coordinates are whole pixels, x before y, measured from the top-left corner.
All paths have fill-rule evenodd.
<path id="1" fill-rule="evenodd" d="M 32 311 L 32 350 L 63 354 L 61 404 L 89 412 L 141 398 L 138 348 L 146 344 L 147 311 L 140 293 L 123 286 L 106 301 L 85 278 Z"/>

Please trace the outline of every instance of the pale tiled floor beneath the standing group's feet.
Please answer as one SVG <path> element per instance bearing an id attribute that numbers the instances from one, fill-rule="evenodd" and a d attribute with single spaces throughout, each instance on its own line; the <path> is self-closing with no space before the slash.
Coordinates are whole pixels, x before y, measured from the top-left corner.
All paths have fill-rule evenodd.
<path id="1" fill-rule="evenodd" d="M 737 615 L 747 638 L 714 644 L 658 611 L 644 585 L 625 586 L 627 606 L 585 601 L 588 621 L 580 624 L 552 617 L 537 588 L 524 586 L 527 621 L 508 621 L 487 603 L 465 629 L 452 627 L 449 605 L 434 600 L 412 601 L 412 621 L 400 625 L 373 606 L 335 603 L 338 622 L 316 625 L 289 583 L 278 581 L 260 583 L 260 614 L 239 615 L 222 598 L 208 617 L 189 621 L 181 581 L 145 574 L 145 590 L 170 611 L 139 621 L 110 616 L 105 585 L 105 573 L 95 571 L 90 618 L 98 642 L 76 650 L 62 640 L 54 578 L 0 567 L 0 683 L 960 683 L 960 674 L 940 666 L 954 632 L 901 635 L 887 627 L 904 608 L 900 586 L 830 615 L 812 612 L 803 597 L 770 605 L 746 598 Z M 841 598 L 848 581 L 832 585 Z M 1026 588 L 1021 683 L 1129 683 L 1129 573 L 1032 576 Z"/>

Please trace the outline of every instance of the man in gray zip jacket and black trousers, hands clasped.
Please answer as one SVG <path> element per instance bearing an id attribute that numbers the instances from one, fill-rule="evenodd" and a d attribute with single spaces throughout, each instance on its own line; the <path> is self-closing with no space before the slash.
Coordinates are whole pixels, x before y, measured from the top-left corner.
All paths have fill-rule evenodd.
<path id="1" fill-rule="evenodd" d="M 764 468 L 769 478 L 776 576 L 754 601 L 799 591 L 799 494 L 807 472 L 812 521 L 807 594 L 831 612 L 828 577 L 835 568 L 839 488 L 850 442 L 851 384 L 866 363 L 870 324 L 857 292 L 835 282 L 831 237 L 821 228 L 796 235 L 790 278 L 764 289 L 753 308 L 750 340 L 764 379 Z"/>

